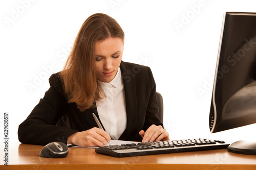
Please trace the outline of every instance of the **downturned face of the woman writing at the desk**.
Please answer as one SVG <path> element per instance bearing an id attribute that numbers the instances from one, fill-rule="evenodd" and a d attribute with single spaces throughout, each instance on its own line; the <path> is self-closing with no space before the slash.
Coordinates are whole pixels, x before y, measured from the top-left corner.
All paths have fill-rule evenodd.
<path id="1" fill-rule="evenodd" d="M 99 81 L 111 82 L 120 66 L 123 56 L 123 41 L 121 38 L 107 38 L 96 42 L 96 74 Z"/>

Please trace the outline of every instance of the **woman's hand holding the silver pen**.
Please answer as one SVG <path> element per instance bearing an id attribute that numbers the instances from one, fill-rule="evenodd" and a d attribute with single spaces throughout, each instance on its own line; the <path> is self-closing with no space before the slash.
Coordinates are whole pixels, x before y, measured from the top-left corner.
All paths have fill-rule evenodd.
<path id="1" fill-rule="evenodd" d="M 68 137 L 68 143 L 80 147 L 99 147 L 108 144 L 111 137 L 104 130 L 92 128 L 87 131 L 76 132 Z"/>

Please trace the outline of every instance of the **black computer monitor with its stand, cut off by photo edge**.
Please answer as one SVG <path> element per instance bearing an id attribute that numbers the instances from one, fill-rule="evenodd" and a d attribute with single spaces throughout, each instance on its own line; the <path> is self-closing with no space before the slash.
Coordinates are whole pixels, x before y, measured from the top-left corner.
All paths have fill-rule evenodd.
<path id="1" fill-rule="evenodd" d="M 256 123 L 256 13 L 226 12 L 209 114 L 210 132 Z M 254 129 L 253 131 L 256 131 Z M 256 155 L 256 141 L 228 151 Z"/>

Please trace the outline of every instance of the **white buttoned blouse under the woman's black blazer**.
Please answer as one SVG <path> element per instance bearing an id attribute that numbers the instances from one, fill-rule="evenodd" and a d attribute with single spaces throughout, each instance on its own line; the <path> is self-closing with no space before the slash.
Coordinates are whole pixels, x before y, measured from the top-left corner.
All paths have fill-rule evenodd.
<path id="1" fill-rule="evenodd" d="M 118 68 L 115 78 L 110 83 L 99 81 L 105 98 L 96 102 L 101 123 L 111 139 L 117 140 L 126 129 L 125 95 L 121 70 Z"/>

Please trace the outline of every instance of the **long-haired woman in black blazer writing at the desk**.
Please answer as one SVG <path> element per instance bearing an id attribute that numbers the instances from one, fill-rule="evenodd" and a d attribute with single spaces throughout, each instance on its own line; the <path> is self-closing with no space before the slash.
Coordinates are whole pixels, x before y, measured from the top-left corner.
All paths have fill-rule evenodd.
<path id="1" fill-rule="evenodd" d="M 65 67 L 20 124 L 20 142 L 95 147 L 110 139 L 169 140 L 159 119 L 151 69 L 122 61 L 124 33 L 112 17 L 84 21 Z M 92 113 L 105 128 L 98 128 Z M 56 126 L 63 119 L 68 127 Z"/>

